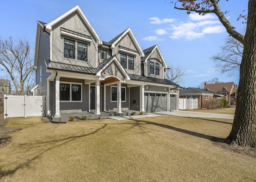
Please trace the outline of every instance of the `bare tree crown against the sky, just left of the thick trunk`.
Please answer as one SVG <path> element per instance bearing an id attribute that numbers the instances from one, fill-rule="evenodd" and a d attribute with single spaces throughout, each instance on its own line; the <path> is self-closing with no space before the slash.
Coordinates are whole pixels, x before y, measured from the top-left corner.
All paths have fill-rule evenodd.
<path id="1" fill-rule="evenodd" d="M 220 73 L 228 73 L 231 76 L 240 69 L 244 45 L 233 37 L 228 37 L 221 50 L 220 53 L 217 53 L 211 59 Z"/>

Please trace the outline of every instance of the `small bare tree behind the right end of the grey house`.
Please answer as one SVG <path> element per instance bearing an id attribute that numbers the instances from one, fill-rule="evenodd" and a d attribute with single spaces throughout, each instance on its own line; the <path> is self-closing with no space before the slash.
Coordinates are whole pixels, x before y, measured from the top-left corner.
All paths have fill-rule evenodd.
<path id="1" fill-rule="evenodd" d="M 183 83 L 183 76 L 185 75 L 183 67 L 180 67 L 179 65 L 177 67 L 169 65 L 168 67 L 170 69 L 166 71 L 166 79 L 177 84 Z"/>

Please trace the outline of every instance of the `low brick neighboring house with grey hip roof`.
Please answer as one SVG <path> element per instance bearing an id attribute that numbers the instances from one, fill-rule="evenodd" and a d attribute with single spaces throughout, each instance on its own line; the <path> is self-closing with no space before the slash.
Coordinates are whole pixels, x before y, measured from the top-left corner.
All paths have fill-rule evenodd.
<path id="1" fill-rule="evenodd" d="M 198 107 L 200 108 L 206 108 L 206 101 L 209 101 L 214 98 L 223 97 L 223 95 L 219 93 L 214 93 L 208 90 L 193 87 L 183 88 L 182 90 L 180 90 L 179 95 L 179 98 L 197 98 Z"/>

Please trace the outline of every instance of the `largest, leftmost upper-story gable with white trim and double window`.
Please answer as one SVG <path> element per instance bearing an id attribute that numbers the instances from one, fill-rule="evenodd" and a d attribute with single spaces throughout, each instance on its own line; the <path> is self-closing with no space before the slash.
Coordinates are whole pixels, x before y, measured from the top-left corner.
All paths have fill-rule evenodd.
<path id="1" fill-rule="evenodd" d="M 78 5 L 44 25 L 44 31 L 50 35 L 51 61 L 98 66 L 102 40 Z"/>

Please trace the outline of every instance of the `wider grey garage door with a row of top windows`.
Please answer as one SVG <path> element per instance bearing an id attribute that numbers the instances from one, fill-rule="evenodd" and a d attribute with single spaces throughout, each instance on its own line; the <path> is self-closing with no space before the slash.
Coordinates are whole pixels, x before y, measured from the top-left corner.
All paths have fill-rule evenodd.
<path id="1" fill-rule="evenodd" d="M 167 94 L 144 93 L 144 109 L 147 113 L 167 111 Z"/>

